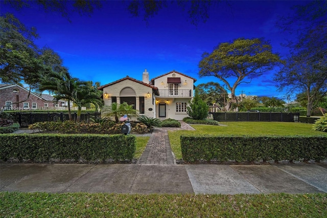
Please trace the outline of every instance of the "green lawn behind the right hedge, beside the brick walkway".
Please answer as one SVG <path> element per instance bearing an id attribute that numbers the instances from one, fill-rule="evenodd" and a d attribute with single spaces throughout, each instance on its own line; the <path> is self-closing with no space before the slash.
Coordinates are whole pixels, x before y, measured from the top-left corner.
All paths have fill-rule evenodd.
<path id="1" fill-rule="evenodd" d="M 279 136 L 316 136 L 324 135 L 320 131 L 312 130 L 312 124 L 295 122 L 219 122 L 222 125 L 194 125 L 195 131 L 169 130 L 169 140 L 176 159 L 181 159 L 181 135 L 279 135 Z M 223 126 L 226 125 L 226 126 Z"/>

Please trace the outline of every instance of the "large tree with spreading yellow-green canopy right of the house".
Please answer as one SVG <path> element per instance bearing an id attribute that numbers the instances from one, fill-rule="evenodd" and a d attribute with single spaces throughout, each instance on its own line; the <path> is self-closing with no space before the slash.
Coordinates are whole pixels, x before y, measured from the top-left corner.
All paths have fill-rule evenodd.
<path id="1" fill-rule="evenodd" d="M 212 53 L 205 52 L 199 62 L 199 76 L 214 76 L 226 84 L 232 96 L 226 105 L 229 111 L 232 103 L 238 103 L 235 90 L 239 84 L 250 83 L 279 62 L 279 55 L 272 52 L 270 43 L 263 38 L 238 38 L 220 43 Z M 233 83 L 231 78 L 235 78 Z"/>

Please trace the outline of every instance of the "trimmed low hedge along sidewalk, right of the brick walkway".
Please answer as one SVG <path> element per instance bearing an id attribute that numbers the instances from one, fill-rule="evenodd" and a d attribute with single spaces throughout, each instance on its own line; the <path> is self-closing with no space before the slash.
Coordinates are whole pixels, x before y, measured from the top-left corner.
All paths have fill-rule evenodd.
<path id="1" fill-rule="evenodd" d="M 326 160 L 324 136 L 180 136 L 186 162 Z"/>

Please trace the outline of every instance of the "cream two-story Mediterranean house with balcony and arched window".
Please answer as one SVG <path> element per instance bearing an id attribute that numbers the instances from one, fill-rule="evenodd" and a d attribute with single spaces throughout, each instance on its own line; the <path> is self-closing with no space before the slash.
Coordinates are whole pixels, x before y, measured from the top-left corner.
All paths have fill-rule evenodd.
<path id="1" fill-rule="evenodd" d="M 126 76 L 98 89 L 103 91 L 105 105 L 127 102 L 140 115 L 182 120 L 188 117 L 186 107 L 194 97 L 194 82 L 196 79 L 175 70 L 150 80 L 145 70 L 142 81 Z"/>

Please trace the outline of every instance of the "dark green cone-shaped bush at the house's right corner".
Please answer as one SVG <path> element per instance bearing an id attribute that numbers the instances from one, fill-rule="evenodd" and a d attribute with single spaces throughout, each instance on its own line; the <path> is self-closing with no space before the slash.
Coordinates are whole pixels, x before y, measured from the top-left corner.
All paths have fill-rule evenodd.
<path id="1" fill-rule="evenodd" d="M 204 120 L 208 116 L 208 105 L 195 93 L 190 105 L 186 108 L 187 113 L 194 120 Z"/>

